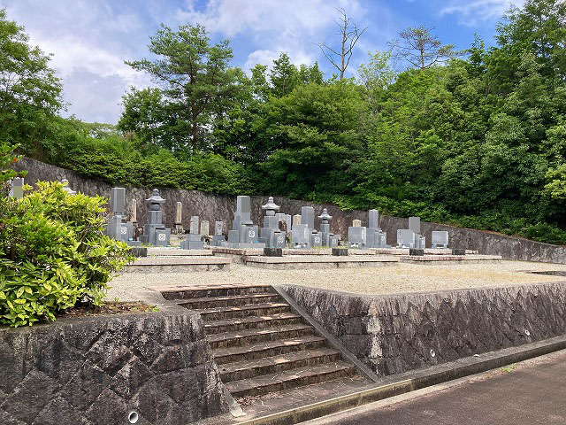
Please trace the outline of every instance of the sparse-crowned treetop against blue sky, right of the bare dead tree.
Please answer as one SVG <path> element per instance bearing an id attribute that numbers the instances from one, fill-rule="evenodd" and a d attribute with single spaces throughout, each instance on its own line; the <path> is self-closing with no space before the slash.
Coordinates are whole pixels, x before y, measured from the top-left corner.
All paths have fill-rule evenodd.
<path id="1" fill-rule="evenodd" d="M 431 34 L 434 28 L 408 27 L 399 33 L 401 40 L 389 42 L 394 50 L 394 58 L 405 60 L 411 66 L 426 69 L 455 58 L 462 52 L 454 50 L 454 44 L 443 45 L 435 35 Z"/>

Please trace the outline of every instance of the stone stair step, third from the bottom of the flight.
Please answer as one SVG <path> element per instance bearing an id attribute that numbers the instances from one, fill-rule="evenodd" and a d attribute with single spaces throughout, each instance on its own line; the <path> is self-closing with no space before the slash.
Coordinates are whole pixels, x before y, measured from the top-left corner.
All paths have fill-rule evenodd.
<path id="1" fill-rule="evenodd" d="M 225 363 L 236 361 L 262 359 L 264 357 L 287 354 L 288 352 L 316 350 L 317 348 L 324 347 L 325 343 L 326 340 L 322 336 L 300 336 L 238 347 L 218 348 L 212 351 L 212 356 L 218 365 L 224 365 Z"/>

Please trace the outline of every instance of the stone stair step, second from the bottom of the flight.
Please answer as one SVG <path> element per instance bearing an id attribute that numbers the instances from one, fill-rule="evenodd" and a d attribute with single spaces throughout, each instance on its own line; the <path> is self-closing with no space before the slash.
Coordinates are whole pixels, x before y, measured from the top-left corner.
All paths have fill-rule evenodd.
<path id="1" fill-rule="evenodd" d="M 220 379 L 223 383 L 231 383 L 259 375 L 279 374 L 291 369 L 312 367 L 339 360 L 340 352 L 327 347 L 304 352 L 289 352 L 263 359 L 226 363 L 219 367 Z"/>

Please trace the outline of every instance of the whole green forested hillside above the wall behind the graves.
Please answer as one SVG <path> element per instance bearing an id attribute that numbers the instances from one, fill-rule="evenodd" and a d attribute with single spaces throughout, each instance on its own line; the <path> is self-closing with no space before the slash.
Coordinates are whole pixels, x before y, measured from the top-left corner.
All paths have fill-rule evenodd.
<path id="1" fill-rule="evenodd" d="M 461 52 L 408 28 L 352 79 L 287 53 L 246 73 L 204 27 L 162 27 L 151 59 L 128 62 L 155 87 L 130 89 L 111 126 L 60 118 L 49 58 L 0 12 L 0 142 L 112 183 L 281 195 L 566 243 L 565 23 L 561 0 L 529 0 L 501 18 L 493 47 L 476 36 Z"/>

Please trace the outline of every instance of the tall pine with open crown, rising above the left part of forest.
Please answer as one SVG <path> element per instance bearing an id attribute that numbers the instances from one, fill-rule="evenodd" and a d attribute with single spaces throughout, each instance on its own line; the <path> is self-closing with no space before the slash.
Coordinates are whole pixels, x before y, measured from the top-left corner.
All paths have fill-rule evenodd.
<path id="1" fill-rule="evenodd" d="M 228 66 L 233 58 L 229 42 L 211 45 L 205 28 L 198 24 L 178 31 L 162 24 L 150 37 L 149 51 L 158 58 L 126 64 L 163 84 L 169 113 L 176 121 L 174 131 L 189 135 L 190 151 L 203 149 L 210 120 L 231 107 L 244 77 L 240 68 Z"/>

